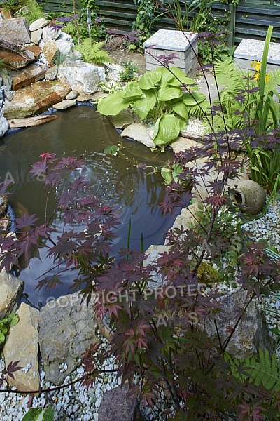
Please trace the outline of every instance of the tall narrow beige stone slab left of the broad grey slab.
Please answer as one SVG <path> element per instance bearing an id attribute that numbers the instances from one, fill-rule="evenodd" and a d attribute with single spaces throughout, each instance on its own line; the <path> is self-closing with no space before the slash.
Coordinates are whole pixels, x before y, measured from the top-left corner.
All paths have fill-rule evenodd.
<path id="1" fill-rule="evenodd" d="M 9 377 L 10 387 L 20 390 L 38 390 L 38 310 L 22 302 L 18 310 L 19 322 L 10 330 L 3 349 L 6 367 L 11 361 L 18 361 L 23 370 Z"/>

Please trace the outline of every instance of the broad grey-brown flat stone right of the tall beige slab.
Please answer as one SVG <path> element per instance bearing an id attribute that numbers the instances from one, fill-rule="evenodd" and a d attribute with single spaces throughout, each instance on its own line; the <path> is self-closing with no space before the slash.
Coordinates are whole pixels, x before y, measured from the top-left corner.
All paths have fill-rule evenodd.
<path id="1" fill-rule="evenodd" d="M 48 302 L 39 315 L 39 344 L 45 380 L 60 385 L 78 365 L 90 344 L 99 342 L 92 302 L 82 303 L 80 295 L 66 295 Z M 66 363 L 60 373 L 59 364 Z"/>

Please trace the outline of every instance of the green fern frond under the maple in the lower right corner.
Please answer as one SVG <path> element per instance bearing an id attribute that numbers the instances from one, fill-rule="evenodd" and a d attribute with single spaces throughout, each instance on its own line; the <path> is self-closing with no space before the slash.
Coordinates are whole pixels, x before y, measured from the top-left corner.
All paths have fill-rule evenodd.
<path id="1" fill-rule="evenodd" d="M 260 359 L 256 361 L 255 356 L 246 359 L 246 368 L 253 378 L 255 385 L 262 384 L 266 389 L 274 392 L 280 391 L 280 361 L 277 362 L 275 352 L 270 358 L 269 352 L 260 350 Z"/>

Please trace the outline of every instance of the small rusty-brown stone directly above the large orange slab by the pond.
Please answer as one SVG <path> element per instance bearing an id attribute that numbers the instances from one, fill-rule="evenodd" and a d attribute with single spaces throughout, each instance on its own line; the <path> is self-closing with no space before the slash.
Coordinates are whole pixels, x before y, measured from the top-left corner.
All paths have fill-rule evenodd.
<path id="1" fill-rule="evenodd" d="M 13 90 L 17 91 L 24 86 L 28 86 L 31 83 L 44 79 L 45 72 L 48 67 L 45 65 L 28 65 L 24 69 L 20 69 L 18 72 L 10 72 L 13 78 Z"/>

